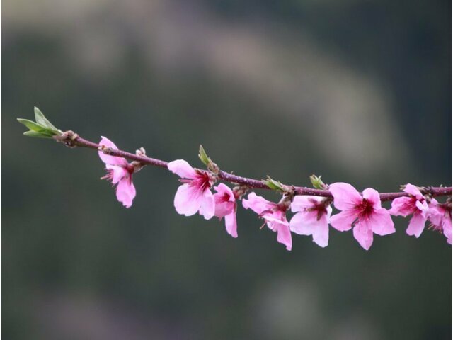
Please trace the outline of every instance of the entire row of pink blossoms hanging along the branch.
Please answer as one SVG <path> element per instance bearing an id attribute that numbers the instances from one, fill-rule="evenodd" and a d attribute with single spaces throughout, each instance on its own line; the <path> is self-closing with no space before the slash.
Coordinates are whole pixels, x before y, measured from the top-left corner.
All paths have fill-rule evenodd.
<path id="1" fill-rule="evenodd" d="M 102 137 L 99 145 L 117 150 L 116 145 Z M 116 186 L 116 196 L 126 208 L 130 208 L 136 195 L 132 174 L 137 164 L 128 163 L 125 158 L 114 157 L 99 151 L 99 157 L 106 164 L 107 175 L 103 179 L 112 181 Z M 311 235 L 321 247 L 328 245 L 329 225 L 340 232 L 352 229 L 352 235 L 363 249 L 368 250 L 373 243 L 374 234 L 385 236 L 395 232 L 391 215 L 411 216 L 406 234 L 420 237 L 427 222 L 447 238 L 452 244 L 452 202 L 439 203 L 435 198 L 425 196 L 420 188 L 406 184 L 403 191 L 408 196 L 395 198 L 391 209 L 382 208 L 379 193 L 366 188 L 362 193 L 348 183 L 331 183 L 328 186 L 333 198 L 295 195 L 291 190 L 284 191 L 278 203 L 248 193 L 246 186 L 229 188 L 224 183 L 217 186 L 217 174 L 212 170 L 195 169 L 183 159 L 167 164 L 168 170 L 180 177 L 182 183 L 174 198 L 176 212 L 192 216 L 197 212 L 210 220 L 212 217 L 224 218 L 226 232 L 237 237 L 236 210 L 238 200 L 245 209 L 256 212 L 263 221 L 263 227 L 277 233 L 277 242 L 292 249 L 292 233 Z M 215 193 L 212 193 L 214 189 Z M 333 205 L 339 212 L 332 215 Z M 294 212 L 287 220 L 287 212 Z"/>

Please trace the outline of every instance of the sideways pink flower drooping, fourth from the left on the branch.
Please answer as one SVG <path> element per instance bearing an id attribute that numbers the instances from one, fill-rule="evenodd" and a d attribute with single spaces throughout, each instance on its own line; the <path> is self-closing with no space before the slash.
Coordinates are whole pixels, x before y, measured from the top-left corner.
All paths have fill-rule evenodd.
<path id="1" fill-rule="evenodd" d="M 291 232 L 286 220 L 287 208 L 283 205 L 269 202 L 256 193 L 249 193 L 248 199 L 242 200 L 243 208 L 250 208 L 266 221 L 268 228 L 277 232 L 277 242 L 285 244 L 287 250 L 292 248 Z"/>

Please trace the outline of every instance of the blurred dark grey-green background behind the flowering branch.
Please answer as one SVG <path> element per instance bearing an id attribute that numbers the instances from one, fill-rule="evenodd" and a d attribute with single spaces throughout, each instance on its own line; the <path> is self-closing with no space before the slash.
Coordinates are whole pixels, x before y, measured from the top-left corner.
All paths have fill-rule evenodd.
<path id="1" fill-rule="evenodd" d="M 321 249 L 239 209 L 173 208 L 178 179 L 134 176 L 129 210 L 96 152 L 23 137 L 38 106 L 62 130 L 151 157 L 362 190 L 452 184 L 451 1 L 4 0 L 5 339 L 451 339 L 452 247 L 425 230 Z M 278 200 L 274 193 L 260 192 Z M 387 207 L 389 205 L 386 205 Z"/>

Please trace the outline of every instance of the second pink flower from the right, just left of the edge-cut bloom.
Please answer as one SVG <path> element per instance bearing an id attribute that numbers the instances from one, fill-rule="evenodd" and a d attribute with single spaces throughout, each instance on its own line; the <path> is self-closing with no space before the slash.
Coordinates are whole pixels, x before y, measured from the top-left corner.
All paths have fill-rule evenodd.
<path id="1" fill-rule="evenodd" d="M 428 203 L 426 203 L 420 190 L 412 184 L 406 184 L 404 192 L 411 196 L 395 198 L 391 203 L 389 212 L 391 215 L 403 217 L 412 214 L 406 234 L 419 237 L 425 229 L 426 220 L 428 220 Z"/>

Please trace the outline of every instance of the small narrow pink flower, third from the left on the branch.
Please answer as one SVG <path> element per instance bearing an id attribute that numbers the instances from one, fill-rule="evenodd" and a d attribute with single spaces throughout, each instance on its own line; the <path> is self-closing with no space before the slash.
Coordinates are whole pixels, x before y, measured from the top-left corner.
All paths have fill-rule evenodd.
<path id="1" fill-rule="evenodd" d="M 214 186 L 215 212 L 214 215 L 225 217 L 226 232 L 232 237 L 238 237 L 238 226 L 236 224 L 236 196 L 234 192 L 224 183 Z"/>

